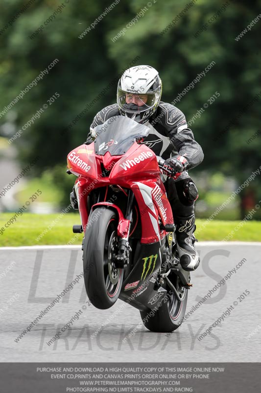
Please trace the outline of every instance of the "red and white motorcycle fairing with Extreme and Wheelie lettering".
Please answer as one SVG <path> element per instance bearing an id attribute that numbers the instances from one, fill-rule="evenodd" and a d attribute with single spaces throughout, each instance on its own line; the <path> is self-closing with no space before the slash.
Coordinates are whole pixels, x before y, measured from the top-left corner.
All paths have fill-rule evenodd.
<path id="1" fill-rule="evenodd" d="M 134 142 L 123 155 L 111 156 L 107 151 L 104 156 L 95 154 L 94 143 L 81 145 L 68 154 L 68 168 L 78 176 L 75 191 L 79 201 L 79 212 L 85 231 L 88 223 L 87 197 L 99 187 L 118 185 L 131 189 L 138 203 L 142 223 L 142 243 L 158 242 L 166 236 L 160 230 L 162 224 L 173 223 L 172 211 L 166 197 L 166 191 L 160 178 L 157 157 L 144 144 Z M 102 164 L 102 166 L 101 166 Z M 109 176 L 102 173 L 102 167 L 110 171 Z M 124 218 L 116 203 L 99 202 L 93 206 L 110 205 L 119 214 L 118 235 L 125 237 L 130 222 Z"/>

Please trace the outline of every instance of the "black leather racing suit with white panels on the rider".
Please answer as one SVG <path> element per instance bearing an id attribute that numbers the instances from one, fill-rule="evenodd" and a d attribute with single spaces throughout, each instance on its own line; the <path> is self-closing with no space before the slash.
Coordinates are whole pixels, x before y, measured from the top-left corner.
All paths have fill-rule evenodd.
<path id="1" fill-rule="evenodd" d="M 117 115 L 120 115 L 118 105 L 109 105 L 96 114 L 90 130 Z M 182 155 L 189 162 L 188 169 L 196 167 L 203 161 L 202 148 L 194 140 L 186 118 L 178 108 L 161 101 L 156 112 L 144 124 L 151 132 L 144 139 L 143 144 L 146 144 L 157 156 L 166 160 L 169 157 Z M 167 178 L 165 182 L 167 197 L 176 222 L 179 217 L 184 219 L 194 214 L 194 200 L 188 199 L 184 193 L 189 182 L 193 181 L 187 171 L 182 172 L 177 180 Z M 189 225 L 187 228 L 190 229 Z"/>

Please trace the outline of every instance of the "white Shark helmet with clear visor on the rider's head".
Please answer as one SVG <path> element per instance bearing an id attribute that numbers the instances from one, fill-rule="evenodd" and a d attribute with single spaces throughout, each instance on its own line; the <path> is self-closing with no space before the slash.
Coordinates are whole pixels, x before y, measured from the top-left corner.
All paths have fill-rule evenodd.
<path id="1" fill-rule="evenodd" d="M 144 123 L 160 103 L 162 82 L 159 73 L 149 65 L 138 65 L 124 71 L 118 83 L 117 104 L 123 116 Z"/>

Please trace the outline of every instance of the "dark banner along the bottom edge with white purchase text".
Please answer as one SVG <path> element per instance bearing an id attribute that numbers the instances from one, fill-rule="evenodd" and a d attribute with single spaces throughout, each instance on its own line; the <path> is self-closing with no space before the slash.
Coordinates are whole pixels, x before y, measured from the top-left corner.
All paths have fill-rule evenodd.
<path id="1" fill-rule="evenodd" d="M 4 393 L 256 393 L 260 363 L 0 363 Z"/>

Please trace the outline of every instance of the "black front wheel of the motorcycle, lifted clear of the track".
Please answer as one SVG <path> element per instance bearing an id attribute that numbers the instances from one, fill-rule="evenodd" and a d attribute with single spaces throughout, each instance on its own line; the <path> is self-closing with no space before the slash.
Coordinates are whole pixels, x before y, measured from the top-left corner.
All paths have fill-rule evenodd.
<path id="1" fill-rule="evenodd" d="M 96 208 L 85 231 L 83 274 L 87 295 L 97 309 L 109 309 L 119 297 L 123 269 L 114 263 L 118 252 L 117 215 L 111 209 Z"/>

